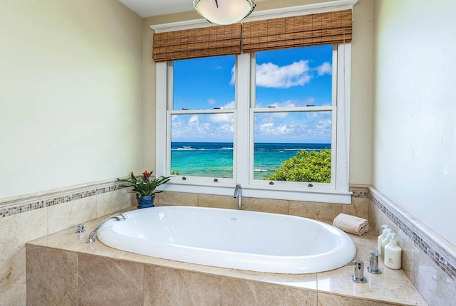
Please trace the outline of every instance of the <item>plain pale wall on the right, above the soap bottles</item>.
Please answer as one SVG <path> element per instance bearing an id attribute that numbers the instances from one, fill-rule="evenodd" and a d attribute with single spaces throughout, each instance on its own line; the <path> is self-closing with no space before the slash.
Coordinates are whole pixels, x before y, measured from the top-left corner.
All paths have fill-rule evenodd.
<path id="1" fill-rule="evenodd" d="M 456 245 L 456 2 L 374 9 L 373 186 Z"/>

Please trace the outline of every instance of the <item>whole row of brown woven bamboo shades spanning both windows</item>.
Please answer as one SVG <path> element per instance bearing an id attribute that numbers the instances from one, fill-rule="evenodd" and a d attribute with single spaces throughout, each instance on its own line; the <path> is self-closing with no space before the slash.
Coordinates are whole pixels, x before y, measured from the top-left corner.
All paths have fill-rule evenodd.
<path id="1" fill-rule="evenodd" d="M 267 19 L 227 26 L 210 26 L 155 33 L 156 62 L 256 51 L 349 43 L 351 9 L 304 16 Z"/>

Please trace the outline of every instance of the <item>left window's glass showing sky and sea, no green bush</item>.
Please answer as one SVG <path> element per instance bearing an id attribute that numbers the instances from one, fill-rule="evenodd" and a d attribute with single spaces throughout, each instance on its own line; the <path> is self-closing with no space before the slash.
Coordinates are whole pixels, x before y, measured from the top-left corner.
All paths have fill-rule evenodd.
<path id="1" fill-rule="evenodd" d="M 172 64 L 167 173 L 234 178 L 235 56 L 176 60 Z M 195 90 L 199 88 L 198 90 Z"/>

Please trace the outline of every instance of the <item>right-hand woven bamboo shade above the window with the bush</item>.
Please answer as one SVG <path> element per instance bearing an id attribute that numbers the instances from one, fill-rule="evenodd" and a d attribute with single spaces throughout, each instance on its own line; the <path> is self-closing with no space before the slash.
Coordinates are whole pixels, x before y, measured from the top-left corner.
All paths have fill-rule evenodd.
<path id="1" fill-rule="evenodd" d="M 243 23 L 245 53 L 351 42 L 351 10 Z"/>

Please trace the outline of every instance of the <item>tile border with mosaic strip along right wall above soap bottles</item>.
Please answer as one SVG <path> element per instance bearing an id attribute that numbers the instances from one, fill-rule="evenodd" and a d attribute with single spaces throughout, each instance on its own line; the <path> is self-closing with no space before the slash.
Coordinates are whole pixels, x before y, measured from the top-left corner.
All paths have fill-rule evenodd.
<path id="1" fill-rule="evenodd" d="M 388 199 L 372 186 L 369 199 L 407 235 L 452 280 L 456 280 L 456 246 Z"/>

